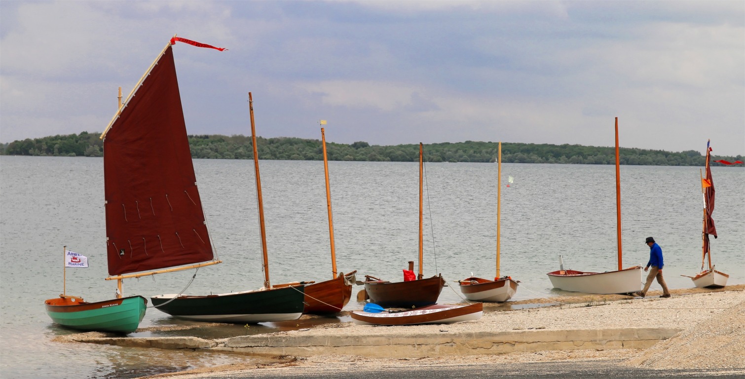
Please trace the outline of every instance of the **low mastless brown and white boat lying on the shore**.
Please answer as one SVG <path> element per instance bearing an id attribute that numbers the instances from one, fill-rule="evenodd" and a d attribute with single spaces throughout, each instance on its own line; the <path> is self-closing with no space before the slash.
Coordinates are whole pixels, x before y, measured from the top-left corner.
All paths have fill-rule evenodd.
<path id="1" fill-rule="evenodd" d="M 352 322 L 357 325 L 419 325 L 449 324 L 452 322 L 474 321 L 484 315 L 484 304 L 469 305 L 428 305 L 410 310 L 387 310 L 350 312 Z"/>

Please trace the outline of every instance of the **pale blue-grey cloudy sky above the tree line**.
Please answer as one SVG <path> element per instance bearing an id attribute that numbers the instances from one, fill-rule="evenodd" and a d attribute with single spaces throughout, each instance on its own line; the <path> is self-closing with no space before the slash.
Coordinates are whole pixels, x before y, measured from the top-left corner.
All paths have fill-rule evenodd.
<path id="1" fill-rule="evenodd" d="M 745 154 L 745 1 L 1 1 L 0 141 L 101 132 L 174 34 L 188 133 Z"/>

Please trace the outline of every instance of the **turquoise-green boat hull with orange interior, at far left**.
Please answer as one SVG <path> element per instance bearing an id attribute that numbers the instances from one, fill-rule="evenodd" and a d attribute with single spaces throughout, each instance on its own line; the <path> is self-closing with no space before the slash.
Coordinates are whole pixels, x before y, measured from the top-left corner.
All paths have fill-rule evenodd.
<path id="1" fill-rule="evenodd" d="M 130 296 L 104 302 L 83 302 L 77 296 L 60 296 L 45 302 L 52 321 L 80 331 L 131 333 L 137 330 L 148 299 Z"/>

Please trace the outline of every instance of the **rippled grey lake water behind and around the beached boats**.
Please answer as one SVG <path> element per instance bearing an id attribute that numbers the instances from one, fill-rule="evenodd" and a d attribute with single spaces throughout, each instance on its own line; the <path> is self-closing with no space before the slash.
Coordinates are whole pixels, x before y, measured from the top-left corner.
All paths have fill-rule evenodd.
<path id="1" fill-rule="evenodd" d="M 425 152 L 426 153 L 426 152 Z M 261 245 L 253 161 L 194 161 L 213 246 L 224 262 L 204 267 L 185 293 L 261 287 Z M 646 264 L 653 236 L 665 255 L 671 288 L 693 287 L 700 269 L 701 215 L 697 167 L 621 167 L 624 267 Z M 337 267 L 391 281 L 418 255 L 419 168 L 416 163 L 329 162 Z M 497 165 L 425 166 L 425 276 L 449 284 L 471 273 L 495 275 Z M 714 264 L 729 284 L 745 282 L 745 169 L 713 168 L 717 188 Z M 2 378 L 133 378 L 250 358 L 194 351 L 64 344 L 70 334 L 51 322 L 44 300 L 63 292 L 63 246 L 89 258 L 68 269 L 66 293 L 101 301 L 114 296 L 107 276 L 103 160 L 1 156 L 0 265 Z M 513 184 L 507 188 L 507 176 Z M 332 278 L 323 162 L 261 161 L 272 281 Z M 557 296 L 546 273 L 559 267 L 615 270 L 615 167 L 502 165 L 501 274 L 521 281 L 514 300 Z M 124 294 L 178 293 L 193 270 L 127 279 Z M 640 278 L 641 281 L 641 278 Z M 353 296 L 361 287 L 355 287 Z M 659 289 L 653 284 L 653 289 Z M 354 297 L 353 297 L 354 299 Z M 446 287 L 440 302 L 459 302 Z M 346 309 L 359 309 L 349 303 Z M 348 319 L 337 319 L 348 322 Z M 140 327 L 194 325 L 148 309 Z M 302 328 L 297 322 L 188 331 L 231 337 Z M 182 332 L 183 333 L 183 332 Z M 136 337 L 178 335 L 138 332 Z M 63 373 L 63 374 L 62 374 Z"/>

